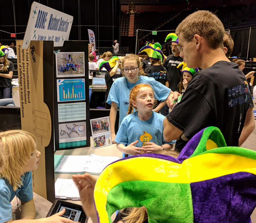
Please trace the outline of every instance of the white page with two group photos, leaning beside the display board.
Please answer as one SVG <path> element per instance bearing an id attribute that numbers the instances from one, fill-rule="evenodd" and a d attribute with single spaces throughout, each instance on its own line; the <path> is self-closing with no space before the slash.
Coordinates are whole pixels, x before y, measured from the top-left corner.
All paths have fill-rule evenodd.
<path id="1" fill-rule="evenodd" d="M 109 116 L 91 119 L 91 132 L 93 136 L 93 148 L 111 145 L 111 134 L 109 127 Z"/>

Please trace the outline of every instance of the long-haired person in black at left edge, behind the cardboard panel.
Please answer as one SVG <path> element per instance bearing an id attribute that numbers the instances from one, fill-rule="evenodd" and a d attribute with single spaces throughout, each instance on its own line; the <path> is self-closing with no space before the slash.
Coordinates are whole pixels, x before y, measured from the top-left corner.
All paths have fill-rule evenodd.
<path id="1" fill-rule="evenodd" d="M 7 60 L 5 53 L 0 50 L 0 99 L 11 97 L 11 78 L 14 65 Z"/>

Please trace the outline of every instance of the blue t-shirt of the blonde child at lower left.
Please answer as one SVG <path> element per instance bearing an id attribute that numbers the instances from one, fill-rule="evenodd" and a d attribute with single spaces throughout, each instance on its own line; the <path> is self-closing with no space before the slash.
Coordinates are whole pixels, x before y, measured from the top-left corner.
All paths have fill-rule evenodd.
<path id="1" fill-rule="evenodd" d="M 22 176 L 23 185 L 16 190 L 17 197 L 22 202 L 30 201 L 33 198 L 32 172 L 25 172 Z M 7 179 L 0 178 L 0 223 L 12 219 L 11 201 L 16 195 Z"/>

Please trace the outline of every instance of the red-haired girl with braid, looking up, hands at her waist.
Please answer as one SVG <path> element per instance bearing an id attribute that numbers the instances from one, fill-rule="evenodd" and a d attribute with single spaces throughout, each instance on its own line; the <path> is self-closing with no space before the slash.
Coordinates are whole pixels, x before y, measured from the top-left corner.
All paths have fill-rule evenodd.
<path id="1" fill-rule="evenodd" d="M 165 117 L 152 111 L 153 107 L 154 91 L 150 85 L 139 84 L 131 89 L 128 115 L 122 120 L 115 138 L 118 150 L 138 155 L 172 148 L 175 141 L 167 143 L 163 139 Z M 132 113 L 134 108 L 137 111 Z"/>

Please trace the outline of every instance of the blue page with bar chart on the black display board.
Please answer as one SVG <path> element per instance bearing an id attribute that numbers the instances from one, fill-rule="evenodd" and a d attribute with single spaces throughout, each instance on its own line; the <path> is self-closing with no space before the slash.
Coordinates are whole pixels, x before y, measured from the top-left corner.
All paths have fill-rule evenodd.
<path id="1" fill-rule="evenodd" d="M 85 79 L 58 79 L 57 101 L 85 100 Z"/>

